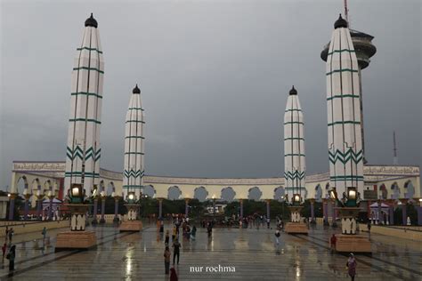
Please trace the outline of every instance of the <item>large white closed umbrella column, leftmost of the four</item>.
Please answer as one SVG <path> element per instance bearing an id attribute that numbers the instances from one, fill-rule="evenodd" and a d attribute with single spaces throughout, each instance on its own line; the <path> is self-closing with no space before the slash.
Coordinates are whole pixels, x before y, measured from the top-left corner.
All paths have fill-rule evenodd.
<path id="1" fill-rule="evenodd" d="M 74 184 L 86 195 L 100 176 L 100 124 L 104 61 L 98 23 L 93 14 L 85 20 L 82 42 L 72 71 L 65 194 Z"/>

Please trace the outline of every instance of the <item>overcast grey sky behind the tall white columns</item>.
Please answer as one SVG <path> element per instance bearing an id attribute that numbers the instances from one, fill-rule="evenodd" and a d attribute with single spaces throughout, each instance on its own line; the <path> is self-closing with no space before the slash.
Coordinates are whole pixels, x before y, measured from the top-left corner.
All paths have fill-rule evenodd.
<path id="1" fill-rule="evenodd" d="M 60 4 L 59 4 L 60 3 Z M 273 177 L 295 84 L 308 173 L 328 171 L 322 46 L 332 1 L 1 1 L 0 187 L 13 160 L 65 160 L 70 73 L 93 12 L 104 52 L 101 167 L 123 169 L 134 84 L 146 110 L 146 173 Z M 375 36 L 363 70 L 366 157 L 421 164 L 421 4 L 349 1 L 351 27 Z"/>

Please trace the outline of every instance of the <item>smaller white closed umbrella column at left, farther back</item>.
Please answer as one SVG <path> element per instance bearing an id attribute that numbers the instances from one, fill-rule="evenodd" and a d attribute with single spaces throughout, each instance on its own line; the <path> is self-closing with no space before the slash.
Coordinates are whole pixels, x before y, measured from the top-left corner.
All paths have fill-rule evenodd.
<path id="1" fill-rule="evenodd" d="M 123 174 L 123 190 L 127 193 L 134 191 L 136 199 L 140 199 L 143 178 L 143 108 L 141 90 L 138 85 L 134 87 L 126 113 L 125 125 L 125 165 Z"/>

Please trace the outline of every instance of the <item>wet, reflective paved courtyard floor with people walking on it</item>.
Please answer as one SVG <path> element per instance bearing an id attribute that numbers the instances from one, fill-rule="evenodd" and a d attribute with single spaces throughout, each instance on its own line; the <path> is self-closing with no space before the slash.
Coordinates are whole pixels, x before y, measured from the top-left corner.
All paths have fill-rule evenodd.
<path id="1" fill-rule="evenodd" d="M 38 233 L 14 237 L 16 270 L 10 276 L 5 260 L 1 279 L 168 279 L 164 275 L 164 237 L 153 225 L 145 225 L 141 233 L 96 227 L 96 250 L 54 253 L 55 236 L 62 230 L 48 231 L 45 243 Z M 282 233 L 276 246 L 272 229 L 215 229 L 208 238 L 206 230 L 199 228 L 196 241 L 182 239 L 181 261 L 175 269 L 180 280 L 347 280 L 346 256 L 329 252 L 326 241 L 331 233 L 322 227 L 311 229 L 309 236 Z M 356 280 L 422 279 L 420 243 L 377 235 L 371 238 L 375 252 L 357 256 Z M 191 267 L 203 267 L 202 272 L 191 272 Z M 228 267 L 235 272 L 228 272 Z M 226 272 L 209 272 L 215 269 Z"/>

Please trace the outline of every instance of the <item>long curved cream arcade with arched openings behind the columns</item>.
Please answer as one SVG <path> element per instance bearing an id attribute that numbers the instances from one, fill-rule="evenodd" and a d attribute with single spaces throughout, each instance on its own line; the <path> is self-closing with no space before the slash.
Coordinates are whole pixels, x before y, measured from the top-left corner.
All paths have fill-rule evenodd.
<path id="1" fill-rule="evenodd" d="M 14 161 L 12 167 L 11 193 L 22 195 L 27 189 L 32 205 L 36 204 L 37 190 L 45 195 L 50 189 L 58 199 L 63 199 L 65 162 Z M 419 167 L 414 165 L 365 165 L 362 200 L 420 198 Z M 99 184 L 107 195 L 123 193 L 123 174 L 100 169 Z M 171 189 L 178 190 L 176 198 L 196 198 L 204 189 L 207 199 L 226 201 L 253 198 L 251 190 L 258 189 L 255 200 L 281 200 L 287 193 L 284 177 L 274 178 L 188 178 L 145 175 L 143 194 L 154 198 L 168 198 Z M 329 197 L 329 173 L 306 176 L 304 199 L 321 200 Z M 226 190 L 228 189 L 228 190 Z M 228 192 L 229 191 L 229 192 Z M 256 193 L 256 192 L 255 192 Z M 227 196 L 231 194 L 231 197 Z"/>

